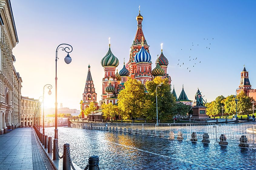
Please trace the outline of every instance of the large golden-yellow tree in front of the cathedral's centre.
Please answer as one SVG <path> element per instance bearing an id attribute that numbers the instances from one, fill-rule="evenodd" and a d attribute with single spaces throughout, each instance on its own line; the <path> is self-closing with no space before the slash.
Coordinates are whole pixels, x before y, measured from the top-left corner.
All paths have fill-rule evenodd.
<path id="1" fill-rule="evenodd" d="M 118 105 L 124 115 L 140 117 L 149 112 L 150 106 L 146 105 L 145 87 L 140 81 L 128 78 L 125 88 L 119 92 Z"/>

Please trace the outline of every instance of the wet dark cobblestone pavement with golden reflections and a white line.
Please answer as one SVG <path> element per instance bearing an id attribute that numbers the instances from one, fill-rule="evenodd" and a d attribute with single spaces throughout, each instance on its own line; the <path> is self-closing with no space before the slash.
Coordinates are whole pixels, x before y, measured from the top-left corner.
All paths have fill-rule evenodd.
<path id="1" fill-rule="evenodd" d="M 71 158 L 80 168 L 85 168 L 89 156 L 98 155 L 101 170 L 256 169 L 255 149 L 109 131 L 58 129 L 60 150 L 69 143 Z M 45 128 L 45 134 L 54 137 L 54 128 Z"/>

